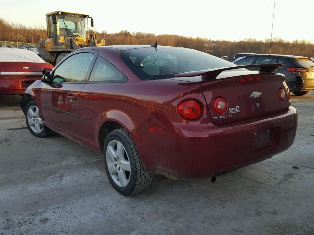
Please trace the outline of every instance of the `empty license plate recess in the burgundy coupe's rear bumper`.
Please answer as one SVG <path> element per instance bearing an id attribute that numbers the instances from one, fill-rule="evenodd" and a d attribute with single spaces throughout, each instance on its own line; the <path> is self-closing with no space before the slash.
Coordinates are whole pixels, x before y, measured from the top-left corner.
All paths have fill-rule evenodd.
<path id="1" fill-rule="evenodd" d="M 273 129 L 263 129 L 253 134 L 253 152 L 271 148 L 274 145 Z"/>

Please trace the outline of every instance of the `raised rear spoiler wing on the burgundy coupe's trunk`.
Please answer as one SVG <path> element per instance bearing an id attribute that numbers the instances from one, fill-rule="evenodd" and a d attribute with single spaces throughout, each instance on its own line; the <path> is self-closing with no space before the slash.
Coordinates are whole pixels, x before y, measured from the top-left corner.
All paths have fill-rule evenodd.
<path id="1" fill-rule="evenodd" d="M 285 65 L 283 64 L 240 65 L 240 66 L 214 68 L 214 69 L 209 69 L 209 70 L 177 73 L 175 74 L 175 76 L 176 77 L 202 76 L 202 78 L 204 79 L 215 79 L 222 71 L 225 71 L 225 70 L 235 70 L 235 69 L 252 68 L 252 67 L 259 67 L 260 72 L 274 72 L 278 68 L 284 68 Z"/>

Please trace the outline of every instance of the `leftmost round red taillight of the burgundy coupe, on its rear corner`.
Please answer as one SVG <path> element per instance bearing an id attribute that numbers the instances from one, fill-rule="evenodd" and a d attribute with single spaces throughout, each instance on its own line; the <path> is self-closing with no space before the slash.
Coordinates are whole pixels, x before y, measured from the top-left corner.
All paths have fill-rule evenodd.
<path id="1" fill-rule="evenodd" d="M 183 100 L 179 103 L 177 110 L 178 113 L 187 120 L 199 118 L 202 112 L 200 104 L 193 99 Z"/>

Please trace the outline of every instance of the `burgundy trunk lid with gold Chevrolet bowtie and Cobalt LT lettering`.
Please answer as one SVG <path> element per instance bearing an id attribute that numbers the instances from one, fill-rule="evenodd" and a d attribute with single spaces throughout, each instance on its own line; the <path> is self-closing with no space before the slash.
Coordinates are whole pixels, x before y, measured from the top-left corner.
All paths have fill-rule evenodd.
<path id="1" fill-rule="evenodd" d="M 200 77 L 175 79 L 201 84 L 211 121 L 215 125 L 278 113 L 290 105 L 284 76 L 281 74 L 234 70 L 223 71 L 217 79 L 205 80 Z M 245 79 L 245 82 L 241 82 L 240 79 Z M 253 81 L 249 81 L 252 79 Z M 286 94 L 284 102 L 279 100 L 280 88 L 284 89 Z M 213 101 L 216 97 L 222 97 L 227 101 L 226 112 L 220 114 L 214 110 Z"/>

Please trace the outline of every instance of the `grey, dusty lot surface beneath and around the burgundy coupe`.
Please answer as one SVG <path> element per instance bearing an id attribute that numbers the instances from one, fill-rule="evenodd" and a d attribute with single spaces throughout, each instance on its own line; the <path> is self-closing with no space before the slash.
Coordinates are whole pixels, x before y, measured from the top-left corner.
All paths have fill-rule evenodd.
<path id="1" fill-rule="evenodd" d="M 299 126 L 287 151 L 213 184 L 155 176 L 132 197 L 111 187 L 99 154 L 32 136 L 19 99 L 0 96 L 0 235 L 314 235 L 314 91 L 291 98 Z"/>

